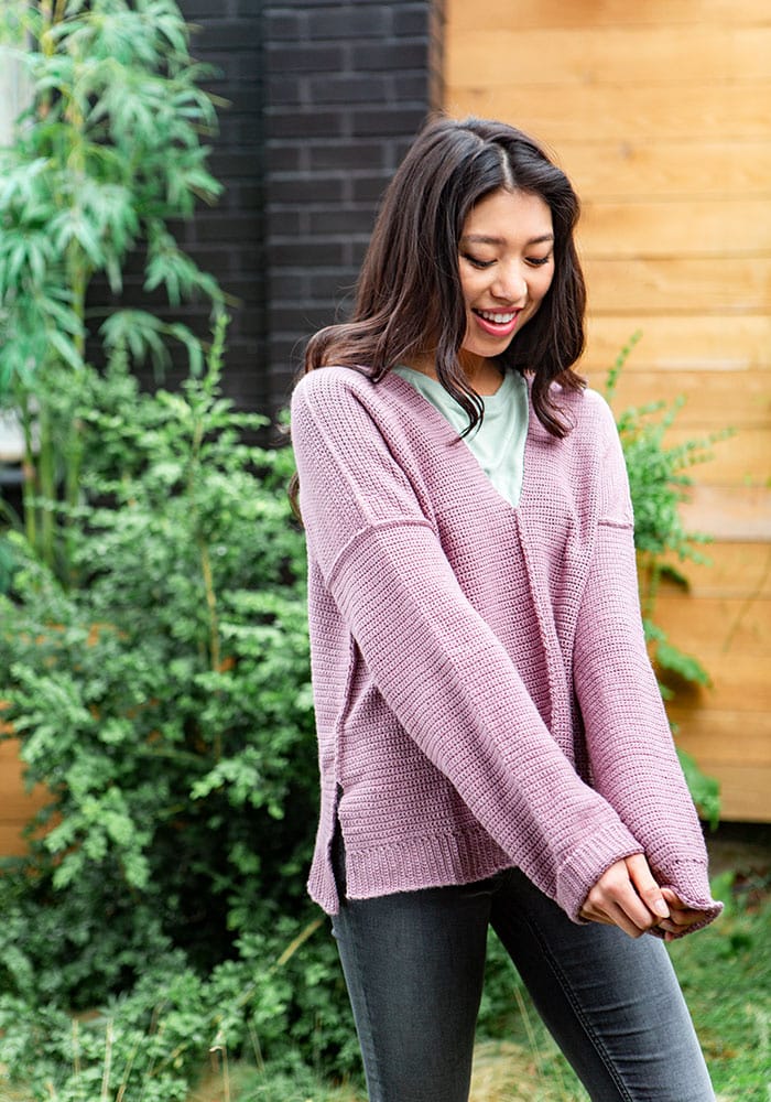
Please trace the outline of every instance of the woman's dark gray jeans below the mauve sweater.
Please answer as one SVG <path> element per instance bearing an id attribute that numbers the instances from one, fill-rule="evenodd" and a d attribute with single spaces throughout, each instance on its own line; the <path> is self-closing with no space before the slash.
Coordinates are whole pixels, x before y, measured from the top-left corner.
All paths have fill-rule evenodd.
<path id="1" fill-rule="evenodd" d="M 333 930 L 370 1102 L 467 1102 L 489 923 L 593 1102 L 713 1102 L 662 942 L 576 926 L 518 869 L 344 901 Z"/>

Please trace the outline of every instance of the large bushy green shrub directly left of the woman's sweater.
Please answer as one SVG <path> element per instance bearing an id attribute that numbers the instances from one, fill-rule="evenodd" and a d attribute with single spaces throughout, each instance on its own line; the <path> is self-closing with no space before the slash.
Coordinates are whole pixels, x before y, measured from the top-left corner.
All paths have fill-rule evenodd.
<path id="1" fill-rule="evenodd" d="M 262 422 L 218 396 L 218 370 L 154 397 L 89 376 L 82 584 L 10 536 L 0 636 L 6 719 L 55 811 L 33 825 L 36 879 L 116 926 L 129 893 L 200 962 L 256 909 L 296 907 L 316 812 L 290 456 L 239 440 Z"/>

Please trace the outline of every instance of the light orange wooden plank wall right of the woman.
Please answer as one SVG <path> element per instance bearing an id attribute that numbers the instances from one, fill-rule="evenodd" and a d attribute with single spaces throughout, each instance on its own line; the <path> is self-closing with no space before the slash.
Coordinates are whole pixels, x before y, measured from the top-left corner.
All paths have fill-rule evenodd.
<path id="1" fill-rule="evenodd" d="M 670 439 L 731 426 L 694 469 L 715 536 L 658 619 L 713 688 L 671 707 L 724 815 L 771 819 L 771 7 L 768 0 L 447 0 L 445 108 L 541 139 L 573 179 L 583 370 L 617 406 L 687 398 Z"/>

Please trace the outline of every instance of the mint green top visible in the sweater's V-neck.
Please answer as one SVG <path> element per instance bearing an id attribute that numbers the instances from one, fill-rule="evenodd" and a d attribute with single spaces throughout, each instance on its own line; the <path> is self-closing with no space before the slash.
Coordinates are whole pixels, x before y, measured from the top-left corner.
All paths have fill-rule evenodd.
<path id="1" fill-rule="evenodd" d="M 441 382 L 412 367 L 393 370 L 463 432 L 468 414 Z M 528 435 L 528 385 L 521 375 L 507 371 L 495 395 L 485 395 L 485 417 L 474 432 L 463 437 L 495 488 L 511 505 L 519 504 L 524 472 L 524 441 Z"/>

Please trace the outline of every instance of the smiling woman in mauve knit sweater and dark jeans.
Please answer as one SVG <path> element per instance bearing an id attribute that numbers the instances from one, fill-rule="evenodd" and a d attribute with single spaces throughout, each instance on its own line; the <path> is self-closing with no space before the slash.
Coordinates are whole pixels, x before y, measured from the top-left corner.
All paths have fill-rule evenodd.
<path id="1" fill-rule="evenodd" d="M 713 1099 L 661 943 L 720 910 L 648 661 L 564 173 L 421 133 L 292 433 L 333 916 L 371 1102 L 465 1102 L 488 925 L 593 1100 Z M 642 938 L 650 933 L 655 937 Z"/>

